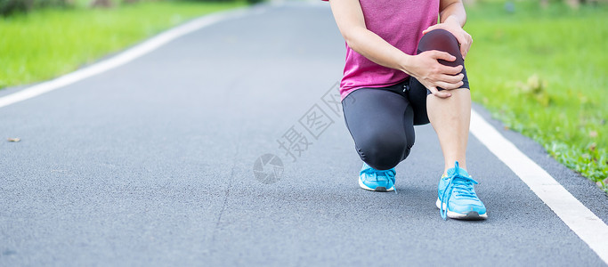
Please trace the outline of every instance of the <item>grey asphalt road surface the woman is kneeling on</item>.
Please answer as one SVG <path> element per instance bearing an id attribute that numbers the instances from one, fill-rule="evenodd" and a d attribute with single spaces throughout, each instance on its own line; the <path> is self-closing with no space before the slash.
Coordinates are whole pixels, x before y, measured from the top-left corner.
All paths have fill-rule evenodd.
<path id="1" fill-rule="evenodd" d="M 328 101 L 344 56 L 328 5 L 273 5 L 0 109 L 0 137 L 21 139 L 0 142 L 0 266 L 604 266 L 473 136 L 487 221 L 442 220 L 428 125 L 398 194 L 361 190 Z M 312 113 L 324 124 L 308 132 Z M 608 222 L 604 193 L 491 123 Z M 280 142 L 296 137 L 292 158 Z M 278 181 L 256 179 L 266 153 Z"/>

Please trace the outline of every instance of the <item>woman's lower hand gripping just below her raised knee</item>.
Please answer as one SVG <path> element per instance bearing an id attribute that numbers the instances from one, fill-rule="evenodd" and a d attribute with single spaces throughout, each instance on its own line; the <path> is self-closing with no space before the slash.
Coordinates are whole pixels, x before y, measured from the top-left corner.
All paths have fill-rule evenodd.
<path id="1" fill-rule="evenodd" d="M 415 77 L 422 85 L 425 85 L 434 96 L 448 98 L 451 89 L 458 89 L 463 85 L 462 78 L 465 77 L 462 71 L 462 65 L 450 67 L 443 65 L 438 60 L 456 61 L 456 57 L 441 51 L 431 50 L 419 53 L 415 56 L 410 56 L 406 67 L 407 73 Z M 437 87 L 446 89 L 438 91 Z"/>

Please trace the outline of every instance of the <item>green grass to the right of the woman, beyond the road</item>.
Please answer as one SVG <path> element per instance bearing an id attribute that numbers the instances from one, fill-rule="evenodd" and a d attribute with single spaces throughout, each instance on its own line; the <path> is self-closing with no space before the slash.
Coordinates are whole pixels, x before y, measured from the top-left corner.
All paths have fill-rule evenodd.
<path id="1" fill-rule="evenodd" d="M 608 6 L 467 7 L 474 101 L 608 192 Z"/>

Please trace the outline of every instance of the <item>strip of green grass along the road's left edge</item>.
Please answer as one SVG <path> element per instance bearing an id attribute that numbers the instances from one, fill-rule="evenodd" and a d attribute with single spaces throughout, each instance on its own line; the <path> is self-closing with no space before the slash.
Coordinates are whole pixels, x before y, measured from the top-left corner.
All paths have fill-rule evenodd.
<path id="1" fill-rule="evenodd" d="M 80 4 L 0 18 L 0 88 L 57 77 L 185 20 L 241 5 L 165 1 L 93 10 Z"/>

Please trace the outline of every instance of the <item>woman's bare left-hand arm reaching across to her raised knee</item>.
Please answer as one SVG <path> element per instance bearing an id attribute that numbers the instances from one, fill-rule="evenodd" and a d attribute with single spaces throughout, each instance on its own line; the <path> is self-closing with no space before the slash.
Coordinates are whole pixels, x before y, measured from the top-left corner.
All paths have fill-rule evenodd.
<path id="1" fill-rule="evenodd" d="M 449 97 L 446 91 L 438 92 L 437 87 L 456 89 L 462 85 L 462 66 L 449 67 L 438 60 L 455 61 L 449 53 L 427 51 L 417 55 L 401 52 L 365 26 L 359 0 L 329 0 L 337 27 L 351 49 L 361 53 L 370 61 L 387 68 L 399 69 L 426 86 L 439 97 Z"/>

